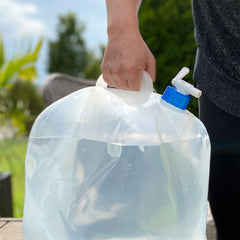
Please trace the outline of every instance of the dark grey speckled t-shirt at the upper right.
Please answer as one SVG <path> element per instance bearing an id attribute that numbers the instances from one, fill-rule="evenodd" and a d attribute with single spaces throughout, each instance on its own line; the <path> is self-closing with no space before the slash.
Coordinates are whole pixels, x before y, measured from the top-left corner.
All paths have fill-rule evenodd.
<path id="1" fill-rule="evenodd" d="M 222 110 L 240 117 L 240 0 L 193 0 L 194 79 Z"/>

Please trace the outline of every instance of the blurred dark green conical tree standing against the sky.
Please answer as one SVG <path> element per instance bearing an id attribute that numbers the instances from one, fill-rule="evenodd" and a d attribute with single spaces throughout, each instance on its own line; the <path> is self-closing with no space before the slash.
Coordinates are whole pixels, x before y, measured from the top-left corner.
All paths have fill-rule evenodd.
<path id="1" fill-rule="evenodd" d="M 73 13 L 61 15 L 57 26 L 57 40 L 49 43 L 49 72 L 83 75 L 87 65 L 87 49 L 83 38 L 84 24 Z"/>

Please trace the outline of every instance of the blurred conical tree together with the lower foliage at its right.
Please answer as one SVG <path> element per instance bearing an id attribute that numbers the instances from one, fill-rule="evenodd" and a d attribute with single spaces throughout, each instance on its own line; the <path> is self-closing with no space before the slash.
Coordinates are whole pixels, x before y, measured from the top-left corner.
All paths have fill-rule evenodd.
<path id="1" fill-rule="evenodd" d="M 96 79 L 101 73 L 102 56 L 97 57 L 86 47 L 85 24 L 71 12 L 60 15 L 58 21 L 57 39 L 49 42 L 48 72 Z"/>

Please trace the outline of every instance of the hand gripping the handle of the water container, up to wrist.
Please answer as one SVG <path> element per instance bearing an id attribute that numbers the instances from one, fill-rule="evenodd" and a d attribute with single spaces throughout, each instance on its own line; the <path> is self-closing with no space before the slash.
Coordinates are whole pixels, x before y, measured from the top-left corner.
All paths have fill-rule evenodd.
<path id="1" fill-rule="evenodd" d="M 155 59 L 138 29 L 117 29 L 108 35 L 101 70 L 110 87 L 140 90 L 143 70 L 155 80 Z"/>

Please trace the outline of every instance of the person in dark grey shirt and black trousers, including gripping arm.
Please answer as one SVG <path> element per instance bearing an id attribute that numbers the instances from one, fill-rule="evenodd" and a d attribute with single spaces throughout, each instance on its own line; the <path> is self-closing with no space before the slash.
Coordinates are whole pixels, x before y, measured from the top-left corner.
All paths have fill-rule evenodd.
<path id="1" fill-rule="evenodd" d="M 108 43 L 102 74 L 111 87 L 139 90 L 155 80 L 155 59 L 138 30 L 139 0 L 106 0 Z M 194 80 L 211 141 L 209 202 L 218 240 L 240 239 L 240 1 L 193 0 L 198 45 Z M 159 23 L 160 24 L 160 23 Z"/>

